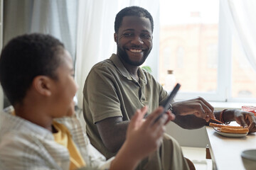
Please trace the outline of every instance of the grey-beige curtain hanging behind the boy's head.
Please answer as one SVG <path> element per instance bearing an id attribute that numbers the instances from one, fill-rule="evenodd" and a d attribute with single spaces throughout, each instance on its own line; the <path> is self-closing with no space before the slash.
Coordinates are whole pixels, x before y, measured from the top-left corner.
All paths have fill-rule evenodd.
<path id="1" fill-rule="evenodd" d="M 46 33 L 62 41 L 75 60 L 77 21 L 76 0 L 4 0 L 3 43 L 24 33 Z"/>

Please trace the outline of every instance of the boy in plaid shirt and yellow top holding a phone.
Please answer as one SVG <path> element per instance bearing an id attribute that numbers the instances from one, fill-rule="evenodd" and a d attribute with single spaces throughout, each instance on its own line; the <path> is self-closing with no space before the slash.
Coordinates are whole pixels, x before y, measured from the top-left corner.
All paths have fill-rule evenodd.
<path id="1" fill-rule="evenodd" d="M 50 35 L 21 35 L 4 47 L 0 82 L 12 106 L 0 118 L 0 169 L 134 169 L 159 147 L 164 123 L 174 117 L 154 123 L 158 108 L 142 120 L 144 107 L 117 156 L 106 162 L 74 114 L 73 74 L 70 54 Z"/>

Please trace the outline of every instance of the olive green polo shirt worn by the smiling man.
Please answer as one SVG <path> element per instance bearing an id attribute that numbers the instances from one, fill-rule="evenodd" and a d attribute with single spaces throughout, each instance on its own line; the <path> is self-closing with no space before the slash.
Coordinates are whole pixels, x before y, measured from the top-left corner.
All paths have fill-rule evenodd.
<path id="1" fill-rule="evenodd" d="M 132 78 L 117 55 L 95 64 L 83 89 L 83 113 L 87 135 L 93 146 L 109 159 L 114 156 L 103 145 L 95 123 L 122 116 L 130 120 L 138 108 L 148 106 L 151 113 L 168 96 L 151 74 L 139 68 L 139 82 Z"/>

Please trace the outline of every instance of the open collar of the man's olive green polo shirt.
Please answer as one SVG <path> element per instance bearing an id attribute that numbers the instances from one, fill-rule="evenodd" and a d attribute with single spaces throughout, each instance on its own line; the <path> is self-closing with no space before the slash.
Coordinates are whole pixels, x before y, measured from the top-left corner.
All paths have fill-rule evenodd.
<path id="1" fill-rule="evenodd" d="M 115 67 L 117 67 L 117 69 L 119 70 L 119 72 L 121 72 L 121 74 L 124 77 L 127 77 L 127 79 L 129 80 L 133 80 L 131 74 L 129 74 L 129 72 L 127 71 L 127 69 L 124 67 L 124 64 L 122 64 L 121 60 L 119 59 L 119 57 L 115 54 L 112 54 L 112 56 L 110 57 L 110 60 L 114 63 Z M 139 74 L 139 79 L 142 81 L 143 84 L 146 84 L 146 76 L 142 70 L 142 68 L 139 67 L 138 69 L 138 74 Z"/>

